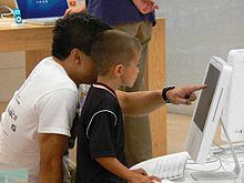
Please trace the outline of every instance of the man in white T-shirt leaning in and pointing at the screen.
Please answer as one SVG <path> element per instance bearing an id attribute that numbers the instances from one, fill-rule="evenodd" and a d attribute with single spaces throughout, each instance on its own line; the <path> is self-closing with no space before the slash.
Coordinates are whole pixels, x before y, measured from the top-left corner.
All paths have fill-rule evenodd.
<path id="1" fill-rule="evenodd" d="M 33 69 L 2 114 L 1 170 L 26 167 L 29 183 L 63 182 L 62 157 L 78 103 L 77 85 L 96 80 L 90 44 L 109 29 L 101 20 L 82 13 L 57 21 L 52 57 Z M 194 91 L 203 88 L 185 87 L 164 94 L 174 104 L 190 104 L 195 100 Z M 124 114 L 144 115 L 165 104 L 161 93 L 118 92 L 118 98 Z"/>

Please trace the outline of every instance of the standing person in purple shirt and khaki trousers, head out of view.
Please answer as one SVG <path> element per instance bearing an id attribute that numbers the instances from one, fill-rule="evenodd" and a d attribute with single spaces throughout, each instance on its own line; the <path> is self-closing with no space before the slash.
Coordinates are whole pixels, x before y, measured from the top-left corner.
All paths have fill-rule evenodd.
<path id="1" fill-rule="evenodd" d="M 126 92 L 148 90 L 144 83 L 148 44 L 151 39 L 152 27 L 155 24 L 154 10 L 159 6 L 154 0 L 87 0 L 85 3 L 89 14 L 98 17 L 114 29 L 126 32 L 140 40 L 142 54 L 139 77 L 133 88 L 121 88 L 121 90 Z M 80 8 L 80 10 L 84 9 L 84 6 Z M 152 157 L 149 116 L 124 116 L 124 125 L 128 163 L 133 165 Z"/>

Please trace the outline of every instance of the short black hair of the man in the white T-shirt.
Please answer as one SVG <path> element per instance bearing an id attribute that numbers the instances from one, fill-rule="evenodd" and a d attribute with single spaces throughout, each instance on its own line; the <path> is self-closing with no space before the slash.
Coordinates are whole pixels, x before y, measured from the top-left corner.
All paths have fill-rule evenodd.
<path id="1" fill-rule="evenodd" d="M 81 12 L 61 18 L 53 30 L 52 55 L 64 60 L 74 48 L 89 55 L 94 37 L 109 29 L 112 28 L 102 20 Z"/>

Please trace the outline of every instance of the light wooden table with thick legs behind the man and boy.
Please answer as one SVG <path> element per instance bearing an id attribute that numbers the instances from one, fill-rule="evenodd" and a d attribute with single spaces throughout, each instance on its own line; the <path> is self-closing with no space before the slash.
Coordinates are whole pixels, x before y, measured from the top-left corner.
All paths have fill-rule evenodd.
<path id="1" fill-rule="evenodd" d="M 0 19 L 0 52 L 26 51 L 26 75 L 44 57 L 50 55 L 52 26 L 16 26 L 13 20 Z M 165 85 L 165 20 L 159 19 L 149 47 L 146 71 L 149 90 Z M 152 154 L 166 154 L 166 108 L 150 115 Z"/>

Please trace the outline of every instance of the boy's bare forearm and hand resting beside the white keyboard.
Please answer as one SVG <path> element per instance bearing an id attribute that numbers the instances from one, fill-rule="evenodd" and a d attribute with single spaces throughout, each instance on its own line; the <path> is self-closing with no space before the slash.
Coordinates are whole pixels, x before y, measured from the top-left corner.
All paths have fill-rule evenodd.
<path id="1" fill-rule="evenodd" d="M 129 170 L 115 157 L 96 157 L 95 161 L 98 161 L 99 164 L 105 167 L 109 172 L 129 181 L 130 183 L 153 183 L 153 180 L 159 181 L 157 177 L 142 175 Z"/>

